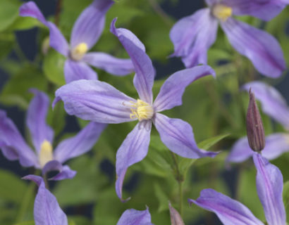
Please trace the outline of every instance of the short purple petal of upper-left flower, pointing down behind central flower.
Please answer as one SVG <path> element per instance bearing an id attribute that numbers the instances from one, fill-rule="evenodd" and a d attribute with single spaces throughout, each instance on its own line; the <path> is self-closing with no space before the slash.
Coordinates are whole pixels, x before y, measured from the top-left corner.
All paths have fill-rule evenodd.
<path id="1" fill-rule="evenodd" d="M 86 63 L 68 59 L 64 64 L 64 76 L 68 84 L 78 79 L 97 79 L 97 72 Z"/>

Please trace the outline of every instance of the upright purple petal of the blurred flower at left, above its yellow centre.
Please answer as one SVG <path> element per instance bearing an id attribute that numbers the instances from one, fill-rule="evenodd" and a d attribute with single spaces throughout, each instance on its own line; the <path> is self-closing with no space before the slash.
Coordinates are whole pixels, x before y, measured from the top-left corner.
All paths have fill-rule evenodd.
<path id="1" fill-rule="evenodd" d="M 30 91 L 35 94 L 35 97 L 29 104 L 26 123 L 30 130 L 33 145 L 37 153 L 39 153 L 43 141 L 52 143 L 54 137 L 54 131 L 46 122 L 50 100 L 42 91 L 38 91 L 37 89 L 30 89 Z"/>

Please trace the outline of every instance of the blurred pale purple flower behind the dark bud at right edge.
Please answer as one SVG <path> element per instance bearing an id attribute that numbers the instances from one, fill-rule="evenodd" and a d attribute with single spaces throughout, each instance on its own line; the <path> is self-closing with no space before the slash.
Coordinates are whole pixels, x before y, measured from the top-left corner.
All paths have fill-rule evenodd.
<path id="1" fill-rule="evenodd" d="M 272 117 L 277 122 L 283 124 L 285 130 L 289 130 L 289 108 L 281 94 L 264 82 L 250 82 L 242 86 L 242 89 L 249 91 L 250 87 L 254 91 L 255 97 L 262 104 L 264 113 Z M 278 158 L 289 150 L 289 134 L 276 133 L 266 136 L 266 144 L 262 155 L 268 160 Z M 253 152 L 247 141 L 247 137 L 239 139 L 228 155 L 228 162 L 242 162 L 252 156 Z"/>

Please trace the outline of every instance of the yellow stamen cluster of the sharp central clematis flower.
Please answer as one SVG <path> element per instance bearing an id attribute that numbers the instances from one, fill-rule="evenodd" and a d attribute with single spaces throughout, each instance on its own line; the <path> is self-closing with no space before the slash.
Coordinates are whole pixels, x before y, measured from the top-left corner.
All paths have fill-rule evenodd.
<path id="1" fill-rule="evenodd" d="M 140 121 L 150 120 L 154 115 L 154 108 L 152 108 L 152 105 L 149 105 L 148 103 L 140 99 L 137 99 L 137 102 L 133 103 L 133 105 L 131 105 L 130 107 L 130 119 L 137 118 Z"/>

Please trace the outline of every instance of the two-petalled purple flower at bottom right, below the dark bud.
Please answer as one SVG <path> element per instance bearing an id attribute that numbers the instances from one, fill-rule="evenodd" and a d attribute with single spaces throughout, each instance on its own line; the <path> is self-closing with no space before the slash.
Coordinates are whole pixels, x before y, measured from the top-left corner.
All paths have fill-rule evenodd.
<path id="1" fill-rule="evenodd" d="M 253 159 L 257 169 L 257 193 L 266 222 L 268 225 L 286 225 L 282 173 L 258 153 L 253 153 Z M 189 199 L 188 202 L 216 213 L 225 225 L 264 225 L 245 205 L 213 189 L 204 189 L 197 200 Z"/>

